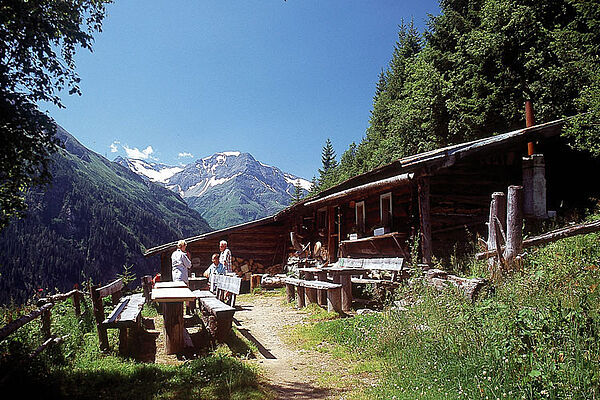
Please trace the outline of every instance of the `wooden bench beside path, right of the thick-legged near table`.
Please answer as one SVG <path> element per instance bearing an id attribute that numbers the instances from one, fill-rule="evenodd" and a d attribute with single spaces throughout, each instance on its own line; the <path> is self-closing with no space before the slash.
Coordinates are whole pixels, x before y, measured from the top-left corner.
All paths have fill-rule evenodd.
<path id="1" fill-rule="evenodd" d="M 212 293 L 211 295 L 208 295 L 207 293 L 202 292 L 207 291 L 194 291 L 194 294 L 197 295 L 198 302 L 200 303 L 202 321 L 212 338 L 217 342 L 224 342 L 231 330 L 231 322 L 233 321 L 235 308 L 223 303 L 212 295 Z"/>

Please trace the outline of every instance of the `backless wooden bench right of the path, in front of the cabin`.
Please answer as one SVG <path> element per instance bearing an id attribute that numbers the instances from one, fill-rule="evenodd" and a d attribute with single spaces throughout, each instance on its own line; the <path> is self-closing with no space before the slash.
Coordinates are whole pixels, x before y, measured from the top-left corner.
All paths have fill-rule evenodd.
<path id="1" fill-rule="evenodd" d="M 310 281 L 296 278 L 285 278 L 285 291 L 288 302 L 292 302 L 298 292 L 298 307 L 305 307 L 306 304 L 319 303 L 322 296 L 318 292 L 327 292 L 327 311 L 342 313 L 342 285 L 339 283 Z M 296 290 L 298 288 L 298 290 Z M 320 304 L 324 305 L 324 304 Z"/>

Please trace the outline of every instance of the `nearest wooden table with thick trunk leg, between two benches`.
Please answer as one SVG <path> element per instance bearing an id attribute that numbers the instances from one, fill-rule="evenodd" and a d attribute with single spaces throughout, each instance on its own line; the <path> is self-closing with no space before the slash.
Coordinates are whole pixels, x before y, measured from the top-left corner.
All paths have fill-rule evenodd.
<path id="1" fill-rule="evenodd" d="M 185 331 L 183 323 L 183 303 L 186 301 L 196 301 L 196 296 L 187 287 L 168 287 L 167 285 L 162 288 L 154 288 L 152 291 L 152 301 L 163 304 L 166 353 L 181 353 L 184 349 Z"/>

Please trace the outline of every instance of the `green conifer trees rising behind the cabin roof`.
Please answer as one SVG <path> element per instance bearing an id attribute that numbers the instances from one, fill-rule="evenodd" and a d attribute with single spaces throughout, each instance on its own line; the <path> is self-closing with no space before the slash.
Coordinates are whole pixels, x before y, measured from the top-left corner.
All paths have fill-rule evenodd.
<path id="1" fill-rule="evenodd" d="M 600 154 L 600 7 L 593 0 L 445 0 L 425 34 L 402 23 L 370 126 L 331 184 L 403 156 L 565 116 Z"/>

